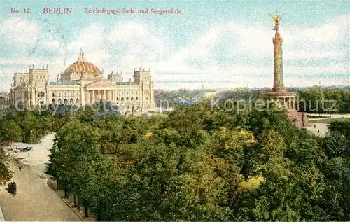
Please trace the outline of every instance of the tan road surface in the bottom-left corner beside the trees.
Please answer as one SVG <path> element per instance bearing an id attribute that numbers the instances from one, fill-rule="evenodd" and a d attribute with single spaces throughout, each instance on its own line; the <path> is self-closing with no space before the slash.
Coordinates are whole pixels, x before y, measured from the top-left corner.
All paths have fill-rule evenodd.
<path id="1" fill-rule="evenodd" d="M 19 172 L 12 162 L 17 194 L 0 191 L 0 206 L 6 221 L 80 221 L 78 216 L 29 167 Z"/>

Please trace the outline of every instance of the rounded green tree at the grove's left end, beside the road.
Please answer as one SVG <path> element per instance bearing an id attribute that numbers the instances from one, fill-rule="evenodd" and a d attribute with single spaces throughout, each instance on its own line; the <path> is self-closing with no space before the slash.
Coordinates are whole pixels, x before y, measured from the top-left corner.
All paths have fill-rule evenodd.
<path id="1" fill-rule="evenodd" d="M 54 148 L 46 173 L 80 197 L 85 209 L 90 207 L 89 198 L 84 192 L 93 172 L 92 162 L 102 157 L 99 147 L 100 135 L 94 127 L 86 123 L 72 121 L 57 132 Z"/>

